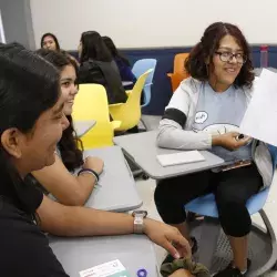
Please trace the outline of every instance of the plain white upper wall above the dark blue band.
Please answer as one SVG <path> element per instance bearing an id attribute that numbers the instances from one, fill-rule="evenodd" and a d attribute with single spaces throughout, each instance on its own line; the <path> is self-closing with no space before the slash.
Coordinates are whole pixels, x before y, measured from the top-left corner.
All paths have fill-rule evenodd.
<path id="1" fill-rule="evenodd" d="M 120 48 L 193 45 L 215 21 L 238 24 L 250 43 L 277 43 L 277 0 L 31 0 L 37 47 L 44 32 L 76 49 L 83 31 Z"/>

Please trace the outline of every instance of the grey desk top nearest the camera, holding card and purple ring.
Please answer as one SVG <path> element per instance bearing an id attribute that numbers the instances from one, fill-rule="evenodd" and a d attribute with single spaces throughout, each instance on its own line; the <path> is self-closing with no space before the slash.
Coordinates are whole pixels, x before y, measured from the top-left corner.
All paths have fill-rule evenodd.
<path id="1" fill-rule="evenodd" d="M 70 277 L 114 259 L 120 259 L 131 276 L 145 268 L 147 276 L 157 277 L 152 242 L 144 235 L 61 238 L 50 237 L 50 246 Z"/>

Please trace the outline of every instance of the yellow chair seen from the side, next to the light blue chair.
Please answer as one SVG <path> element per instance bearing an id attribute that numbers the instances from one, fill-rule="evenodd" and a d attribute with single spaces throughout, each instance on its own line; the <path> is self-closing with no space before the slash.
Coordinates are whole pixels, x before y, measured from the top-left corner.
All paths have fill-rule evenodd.
<path id="1" fill-rule="evenodd" d="M 133 90 L 131 92 L 126 92 L 129 95 L 126 103 L 109 105 L 110 114 L 113 120 L 121 121 L 121 125 L 116 129 L 116 131 L 127 131 L 138 124 L 142 115 L 141 94 L 146 78 L 152 71 L 153 69 L 147 70 L 144 74 L 142 74 L 137 79 Z"/>

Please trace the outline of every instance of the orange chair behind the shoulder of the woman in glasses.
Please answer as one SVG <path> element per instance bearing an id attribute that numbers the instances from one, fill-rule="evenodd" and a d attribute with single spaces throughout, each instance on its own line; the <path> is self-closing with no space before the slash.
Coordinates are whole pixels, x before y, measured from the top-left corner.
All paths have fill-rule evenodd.
<path id="1" fill-rule="evenodd" d="M 172 91 L 176 91 L 179 83 L 188 78 L 187 72 L 185 71 L 185 60 L 188 58 L 189 53 L 179 53 L 174 58 L 174 68 L 173 73 L 167 73 L 167 76 L 171 78 Z"/>

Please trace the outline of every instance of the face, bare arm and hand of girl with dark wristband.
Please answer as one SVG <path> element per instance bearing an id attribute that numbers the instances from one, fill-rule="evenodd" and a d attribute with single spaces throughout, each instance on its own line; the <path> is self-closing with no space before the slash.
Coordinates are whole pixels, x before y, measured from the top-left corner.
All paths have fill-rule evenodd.
<path id="1" fill-rule="evenodd" d="M 61 92 L 65 100 L 63 106 L 65 115 L 72 114 L 74 99 L 78 93 L 75 81 L 75 69 L 72 65 L 65 65 L 60 73 Z M 92 156 L 89 156 L 83 165 L 83 168 L 93 170 L 99 175 L 102 173 L 103 167 L 103 161 Z M 51 166 L 32 174 L 60 203 L 70 206 L 83 206 L 96 183 L 95 177 L 91 174 L 72 175 L 58 155 L 55 155 L 55 162 Z"/>

